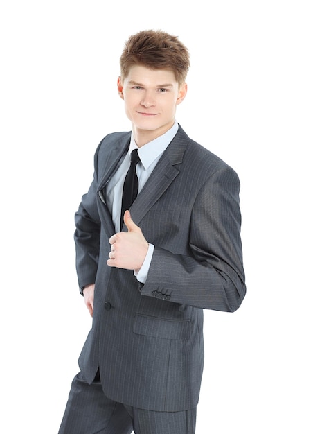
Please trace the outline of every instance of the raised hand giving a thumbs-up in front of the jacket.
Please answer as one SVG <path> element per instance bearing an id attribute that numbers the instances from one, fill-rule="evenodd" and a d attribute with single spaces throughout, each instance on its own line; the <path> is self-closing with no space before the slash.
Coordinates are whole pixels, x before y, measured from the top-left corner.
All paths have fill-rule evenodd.
<path id="1" fill-rule="evenodd" d="M 118 232 L 109 238 L 111 252 L 107 265 L 138 272 L 146 257 L 149 243 L 144 238 L 141 228 L 132 220 L 129 211 L 124 213 L 124 223 L 128 232 Z"/>

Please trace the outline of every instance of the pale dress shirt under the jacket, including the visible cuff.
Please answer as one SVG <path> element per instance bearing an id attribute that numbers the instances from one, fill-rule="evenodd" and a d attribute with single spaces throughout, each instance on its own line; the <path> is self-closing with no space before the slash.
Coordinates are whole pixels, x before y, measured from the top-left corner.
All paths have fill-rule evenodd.
<path id="1" fill-rule="evenodd" d="M 120 232 L 120 210 L 122 206 L 122 195 L 123 195 L 123 184 L 127 171 L 130 165 L 130 155 L 132 150 L 138 149 L 138 157 L 140 157 L 140 162 L 136 165 L 136 175 L 138 175 L 138 194 L 142 190 L 145 182 L 147 182 L 148 177 L 150 177 L 154 167 L 159 162 L 161 155 L 168 148 L 170 141 L 172 141 L 175 134 L 178 131 L 178 123 L 175 121 L 174 125 L 165 134 L 156 139 L 148 142 L 141 148 L 135 143 L 133 132 L 131 136 L 131 142 L 129 144 L 129 150 L 125 155 L 123 162 L 118 167 L 116 173 L 114 173 L 111 180 L 108 182 L 106 187 L 106 202 L 109 211 L 111 211 L 111 216 L 116 229 L 116 232 Z M 144 234 L 143 234 L 144 235 Z M 152 259 L 152 254 L 154 251 L 154 245 L 149 243 L 149 250 L 143 262 L 143 265 L 136 275 L 136 279 L 141 281 L 143 284 L 147 279 L 147 272 L 150 268 L 150 263 Z"/>

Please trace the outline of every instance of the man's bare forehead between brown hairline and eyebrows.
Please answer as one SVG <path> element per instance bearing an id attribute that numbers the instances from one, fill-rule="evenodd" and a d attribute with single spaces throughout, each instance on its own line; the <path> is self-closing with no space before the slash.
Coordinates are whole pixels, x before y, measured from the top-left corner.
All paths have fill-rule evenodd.
<path id="1" fill-rule="evenodd" d="M 142 85 L 175 85 L 177 83 L 175 73 L 170 69 L 150 69 L 142 65 L 131 67 L 125 81 Z"/>

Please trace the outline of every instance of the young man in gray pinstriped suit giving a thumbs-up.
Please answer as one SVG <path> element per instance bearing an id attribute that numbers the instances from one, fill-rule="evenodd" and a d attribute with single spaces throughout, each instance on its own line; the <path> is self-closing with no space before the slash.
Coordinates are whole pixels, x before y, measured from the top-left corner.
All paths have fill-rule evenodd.
<path id="1" fill-rule="evenodd" d="M 189 67 L 186 46 L 162 31 L 129 37 L 121 55 L 132 132 L 102 139 L 75 214 L 93 326 L 60 434 L 195 433 L 202 309 L 233 312 L 244 298 L 238 175 L 175 119 Z M 128 169 L 138 177 L 130 209 Z"/>

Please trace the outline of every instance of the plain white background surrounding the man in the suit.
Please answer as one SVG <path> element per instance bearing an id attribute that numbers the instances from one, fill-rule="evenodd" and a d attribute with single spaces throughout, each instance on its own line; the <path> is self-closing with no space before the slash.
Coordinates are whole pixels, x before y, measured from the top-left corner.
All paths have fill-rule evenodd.
<path id="1" fill-rule="evenodd" d="M 241 182 L 247 297 L 205 311 L 197 434 L 321 434 L 319 3 L 1 3 L 1 432 L 57 433 L 91 326 L 73 216 L 100 139 L 130 129 L 123 44 L 160 28 L 191 55 L 177 120 Z"/>

